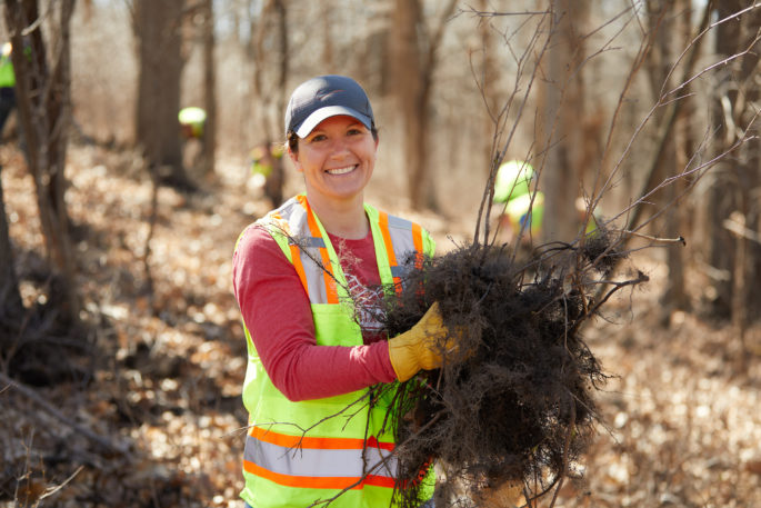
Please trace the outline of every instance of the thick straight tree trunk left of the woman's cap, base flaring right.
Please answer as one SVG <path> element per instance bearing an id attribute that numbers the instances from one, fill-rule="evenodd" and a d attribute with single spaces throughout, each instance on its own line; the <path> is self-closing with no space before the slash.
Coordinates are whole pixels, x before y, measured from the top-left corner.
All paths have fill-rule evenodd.
<path id="1" fill-rule="evenodd" d="M 180 110 L 180 24 L 184 0 L 136 0 L 139 51 L 137 131 L 148 162 L 162 183 L 194 189 L 182 166 L 177 123 Z"/>

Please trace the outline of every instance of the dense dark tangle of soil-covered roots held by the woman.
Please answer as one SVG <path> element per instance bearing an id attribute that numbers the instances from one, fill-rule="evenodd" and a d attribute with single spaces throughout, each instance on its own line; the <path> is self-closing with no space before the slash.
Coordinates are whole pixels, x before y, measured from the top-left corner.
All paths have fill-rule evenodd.
<path id="1" fill-rule="evenodd" d="M 600 258 L 605 249 L 594 250 Z M 605 375 L 579 332 L 592 313 L 589 288 L 569 285 L 557 267 L 529 267 L 504 247 L 463 246 L 385 292 L 389 337 L 438 301 L 459 343 L 441 369 L 398 387 L 391 419 L 401 506 L 418 506 L 417 478 L 433 460 L 443 478 L 437 497 L 458 497 L 458 506 L 507 482 L 530 480 L 539 496 L 572 472 L 590 442 L 593 391 Z"/>

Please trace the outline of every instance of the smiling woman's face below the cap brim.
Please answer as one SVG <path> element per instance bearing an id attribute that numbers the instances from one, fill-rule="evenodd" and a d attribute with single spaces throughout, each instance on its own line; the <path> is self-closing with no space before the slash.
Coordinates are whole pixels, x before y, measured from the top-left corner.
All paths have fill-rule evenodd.
<path id="1" fill-rule="evenodd" d="M 362 199 L 376 166 L 378 141 L 359 120 L 330 117 L 303 139 L 299 151 L 291 152 L 297 171 L 304 175 L 310 199 L 328 202 Z"/>

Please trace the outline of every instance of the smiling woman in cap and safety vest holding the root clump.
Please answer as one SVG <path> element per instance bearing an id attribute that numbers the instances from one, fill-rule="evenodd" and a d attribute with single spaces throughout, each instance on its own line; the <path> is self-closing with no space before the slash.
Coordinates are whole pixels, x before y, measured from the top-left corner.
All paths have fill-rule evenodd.
<path id="1" fill-rule="evenodd" d="M 387 508 L 397 466 L 393 431 L 382 430 L 391 396 L 362 397 L 440 367 L 432 342 L 447 329 L 434 303 L 411 330 L 387 338 L 372 288 L 399 281 L 403 261 L 432 256 L 434 243 L 418 225 L 364 203 L 379 137 L 357 81 L 300 84 L 286 137 L 306 193 L 249 226 L 233 253 L 248 346 L 241 497 L 252 508 L 332 498 L 332 508 Z M 425 507 L 431 472 L 421 475 Z"/>

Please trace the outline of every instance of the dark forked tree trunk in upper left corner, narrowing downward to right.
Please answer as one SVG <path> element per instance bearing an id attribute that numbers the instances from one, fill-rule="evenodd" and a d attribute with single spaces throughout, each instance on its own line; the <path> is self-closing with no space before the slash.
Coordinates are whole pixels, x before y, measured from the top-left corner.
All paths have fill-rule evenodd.
<path id="1" fill-rule="evenodd" d="M 48 259 L 63 278 L 63 313 L 79 316 L 76 263 L 69 236 L 64 175 L 70 104 L 70 20 L 74 0 L 54 4 L 46 43 L 37 0 L 6 2 L 6 21 L 13 44 L 18 114 L 26 156 L 34 179 Z M 57 17 L 57 19 L 56 19 Z M 50 51 L 49 51 L 50 50 Z"/>

